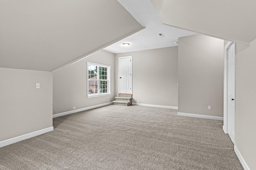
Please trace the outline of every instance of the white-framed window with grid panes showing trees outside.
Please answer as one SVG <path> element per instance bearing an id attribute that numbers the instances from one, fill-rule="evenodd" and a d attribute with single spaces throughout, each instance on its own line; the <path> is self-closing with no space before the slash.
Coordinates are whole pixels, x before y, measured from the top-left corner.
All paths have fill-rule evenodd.
<path id="1" fill-rule="evenodd" d="M 110 95 L 110 66 L 87 63 L 88 98 Z"/>

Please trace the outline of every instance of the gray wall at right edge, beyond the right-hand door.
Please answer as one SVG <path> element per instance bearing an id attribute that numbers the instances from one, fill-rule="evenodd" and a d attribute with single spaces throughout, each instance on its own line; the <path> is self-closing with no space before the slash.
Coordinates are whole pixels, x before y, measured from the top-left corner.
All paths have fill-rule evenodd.
<path id="1" fill-rule="evenodd" d="M 236 147 L 251 170 L 256 169 L 256 40 L 236 44 Z"/>

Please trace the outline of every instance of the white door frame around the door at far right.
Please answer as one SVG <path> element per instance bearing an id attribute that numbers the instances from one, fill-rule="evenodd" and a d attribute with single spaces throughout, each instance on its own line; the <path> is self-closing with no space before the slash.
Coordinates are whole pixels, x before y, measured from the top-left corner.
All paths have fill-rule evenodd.
<path id="1" fill-rule="evenodd" d="M 224 108 L 223 131 L 228 134 L 228 49 L 234 42 L 228 41 L 224 47 Z M 236 43 L 235 44 L 235 110 L 234 110 L 234 146 L 236 146 Z"/>

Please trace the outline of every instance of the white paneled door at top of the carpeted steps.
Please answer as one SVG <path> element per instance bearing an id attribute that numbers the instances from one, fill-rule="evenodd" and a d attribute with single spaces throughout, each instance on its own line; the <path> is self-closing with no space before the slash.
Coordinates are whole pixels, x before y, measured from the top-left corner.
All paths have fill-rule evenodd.
<path id="1" fill-rule="evenodd" d="M 119 93 L 132 94 L 132 56 L 119 58 Z"/>

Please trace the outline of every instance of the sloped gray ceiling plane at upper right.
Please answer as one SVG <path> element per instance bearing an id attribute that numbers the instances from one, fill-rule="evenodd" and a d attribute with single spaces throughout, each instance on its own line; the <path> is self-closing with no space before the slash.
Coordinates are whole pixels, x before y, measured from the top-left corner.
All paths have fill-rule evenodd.
<path id="1" fill-rule="evenodd" d="M 151 0 L 163 23 L 250 44 L 256 39 L 256 0 Z"/>

